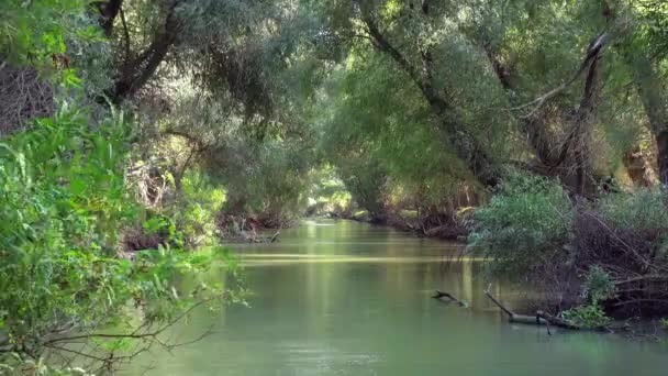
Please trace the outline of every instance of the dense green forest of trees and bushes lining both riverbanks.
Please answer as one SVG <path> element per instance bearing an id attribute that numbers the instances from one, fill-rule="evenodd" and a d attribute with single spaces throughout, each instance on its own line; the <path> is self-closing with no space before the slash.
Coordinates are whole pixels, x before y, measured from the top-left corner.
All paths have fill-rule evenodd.
<path id="1" fill-rule="evenodd" d="M 0 159 L 0 374 L 177 349 L 308 217 L 668 328 L 668 2 L 2 0 Z"/>

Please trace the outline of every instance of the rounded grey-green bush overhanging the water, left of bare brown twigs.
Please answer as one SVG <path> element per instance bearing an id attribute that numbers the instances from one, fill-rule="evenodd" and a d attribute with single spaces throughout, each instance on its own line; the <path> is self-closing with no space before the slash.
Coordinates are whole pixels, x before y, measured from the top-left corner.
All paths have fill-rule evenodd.
<path id="1" fill-rule="evenodd" d="M 564 263 L 575 209 L 555 181 L 511 173 L 491 201 L 476 210 L 469 250 L 488 258 L 489 270 L 523 278 L 535 267 Z"/>

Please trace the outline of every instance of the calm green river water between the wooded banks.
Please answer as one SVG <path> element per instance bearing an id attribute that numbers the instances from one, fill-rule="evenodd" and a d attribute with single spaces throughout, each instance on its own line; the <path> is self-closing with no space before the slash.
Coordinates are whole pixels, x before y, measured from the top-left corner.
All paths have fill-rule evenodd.
<path id="1" fill-rule="evenodd" d="M 129 375 L 668 375 L 668 346 L 509 324 L 456 244 L 348 221 L 305 221 L 280 242 L 235 245 L 249 307 L 198 312 L 205 339 L 144 354 Z M 431 299 L 434 289 L 470 303 Z M 513 305 L 522 295 L 496 288 Z"/>

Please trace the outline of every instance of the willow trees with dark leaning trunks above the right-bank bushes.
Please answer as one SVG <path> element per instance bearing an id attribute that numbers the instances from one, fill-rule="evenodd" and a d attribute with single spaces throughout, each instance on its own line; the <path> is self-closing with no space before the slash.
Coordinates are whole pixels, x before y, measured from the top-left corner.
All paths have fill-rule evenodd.
<path id="1" fill-rule="evenodd" d="M 576 193 L 590 193 L 633 147 L 624 140 L 644 128 L 637 104 L 649 103 L 643 92 L 652 90 L 628 95 L 634 75 L 620 48 L 630 29 L 625 20 L 634 11 L 627 3 L 305 3 L 321 15 L 321 38 L 366 45 L 405 76 L 437 119 L 443 147 L 454 151 L 483 185 L 493 186 L 499 166 L 512 164 L 559 176 Z M 641 46 L 647 51 L 650 43 Z M 650 73 L 635 76 L 660 82 Z M 471 87 L 487 96 L 467 97 Z M 657 89 L 655 98 L 660 97 Z M 659 107 L 653 108 L 654 118 L 660 118 Z M 480 124 L 476 115 L 492 111 L 497 113 Z M 513 150 L 496 154 L 481 135 L 509 123 L 512 131 L 502 142 Z"/>

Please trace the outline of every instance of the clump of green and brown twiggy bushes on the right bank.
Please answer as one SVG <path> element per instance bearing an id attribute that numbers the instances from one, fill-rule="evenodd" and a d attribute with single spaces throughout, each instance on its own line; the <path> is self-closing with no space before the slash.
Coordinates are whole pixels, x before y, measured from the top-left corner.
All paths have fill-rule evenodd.
<path id="1" fill-rule="evenodd" d="M 557 181 L 511 174 L 478 209 L 469 250 L 488 272 L 557 292 L 564 316 L 603 327 L 609 313 L 656 314 L 668 301 L 668 211 L 658 189 L 612 192 L 571 204 Z M 581 272 L 586 273 L 582 274 Z M 617 289 L 619 287 L 619 289 Z"/>

